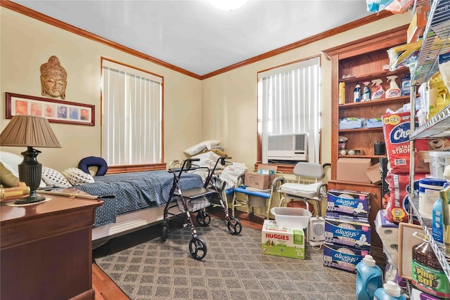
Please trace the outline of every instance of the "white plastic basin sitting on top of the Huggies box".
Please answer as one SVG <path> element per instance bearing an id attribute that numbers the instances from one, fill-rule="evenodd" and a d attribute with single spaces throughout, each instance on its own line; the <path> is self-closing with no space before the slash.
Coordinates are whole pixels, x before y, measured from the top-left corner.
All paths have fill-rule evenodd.
<path id="1" fill-rule="evenodd" d="M 270 212 L 276 224 L 285 228 L 307 228 L 312 216 L 311 211 L 301 207 L 272 207 Z"/>

